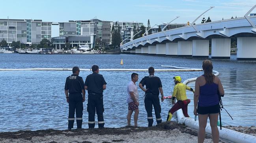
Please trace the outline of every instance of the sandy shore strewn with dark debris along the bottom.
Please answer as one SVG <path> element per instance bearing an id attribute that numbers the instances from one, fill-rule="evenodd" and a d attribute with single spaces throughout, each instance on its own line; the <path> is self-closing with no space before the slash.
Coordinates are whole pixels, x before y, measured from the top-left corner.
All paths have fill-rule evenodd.
<path id="1" fill-rule="evenodd" d="M 256 127 L 233 127 L 224 126 L 224 128 L 236 130 L 256 136 Z M 196 143 L 197 130 L 191 129 L 177 122 L 163 122 L 154 127 L 134 127 L 125 126 L 121 128 L 104 128 L 104 129 L 72 129 L 72 130 L 19 130 L 16 132 L 0 132 L 0 143 L 95 143 L 95 142 L 151 142 L 151 143 Z M 211 135 L 206 135 L 205 143 L 211 143 Z M 219 141 L 223 142 L 222 139 Z"/>

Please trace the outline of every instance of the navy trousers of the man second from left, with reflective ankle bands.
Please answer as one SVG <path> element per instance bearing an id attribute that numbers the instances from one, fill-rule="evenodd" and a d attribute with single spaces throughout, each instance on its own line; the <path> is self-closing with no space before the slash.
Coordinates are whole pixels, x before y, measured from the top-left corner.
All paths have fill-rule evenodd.
<path id="1" fill-rule="evenodd" d="M 89 93 L 87 104 L 89 128 L 95 127 L 95 109 L 98 117 L 98 126 L 103 128 L 105 124 L 103 119 L 103 94 Z"/>

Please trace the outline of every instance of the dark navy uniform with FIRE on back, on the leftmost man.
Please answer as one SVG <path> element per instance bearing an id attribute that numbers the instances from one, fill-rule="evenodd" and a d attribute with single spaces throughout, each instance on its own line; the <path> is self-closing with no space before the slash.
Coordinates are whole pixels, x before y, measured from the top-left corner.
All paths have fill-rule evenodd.
<path id="1" fill-rule="evenodd" d="M 69 118 L 68 129 L 73 128 L 75 121 L 75 111 L 77 117 L 77 128 L 82 128 L 84 81 L 82 77 L 72 74 L 68 76 L 65 83 L 65 90 L 69 91 Z"/>

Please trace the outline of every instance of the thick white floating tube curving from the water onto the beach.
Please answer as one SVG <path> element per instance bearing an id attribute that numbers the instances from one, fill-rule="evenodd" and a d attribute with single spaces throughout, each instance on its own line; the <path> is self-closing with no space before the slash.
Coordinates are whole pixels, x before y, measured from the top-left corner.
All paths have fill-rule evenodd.
<path id="1" fill-rule="evenodd" d="M 162 67 L 172 67 L 172 68 L 178 68 L 178 69 L 184 68 L 184 67 L 165 66 L 165 65 L 162 65 Z M 193 69 L 193 68 L 184 68 L 184 69 Z M 219 75 L 219 72 L 217 72 L 217 71 L 213 71 L 213 72 L 214 72 L 215 76 Z M 196 78 L 190 78 L 190 79 L 183 81 L 183 84 L 186 85 L 187 83 L 189 83 L 191 81 L 195 81 L 195 80 L 196 80 Z M 185 117 L 183 115 L 183 112 L 181 109 L 179 109 L 177 111 L 177 116 L 178 116 L 178 123 L 185 124 L 189 127 L 197 129 L 197 130 L 199 129 L 198 121 L 194 121 L 194 119 L 192 119 L 192 118 Z M 256 136 L 251 136 L 249 134 L 236 132 L 234 130 L 226 129 L 223 127 L 222 127 L 222 130 L 220 130 L 220 127 L 218 127 L 218 128 L 219 128 L 220 138 L 227 139 L 229 141 L 233 141 L 234 143 L 256 143 Z M 211 134 L 211 126 L 209 123 L 207 123 L 207 125 L 206 125 L 206 132 L 208 134 Z"/>

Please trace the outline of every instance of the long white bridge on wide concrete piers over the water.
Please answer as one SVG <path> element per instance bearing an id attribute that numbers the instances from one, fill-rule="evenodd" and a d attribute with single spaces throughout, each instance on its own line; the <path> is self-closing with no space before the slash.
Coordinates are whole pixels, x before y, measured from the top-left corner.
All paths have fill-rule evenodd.
<path id="1" fill-rule="evenodd" d="M 252 11 L 250 9 L 250 11 Z M 256 16 L 193 23 L 140 37 L 120 46 L 123 53 L 230 59 L 231 38 L 237 38 L 237 60 L 256 60 Z"/>

